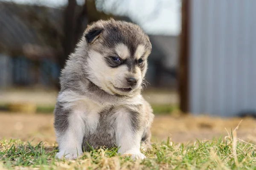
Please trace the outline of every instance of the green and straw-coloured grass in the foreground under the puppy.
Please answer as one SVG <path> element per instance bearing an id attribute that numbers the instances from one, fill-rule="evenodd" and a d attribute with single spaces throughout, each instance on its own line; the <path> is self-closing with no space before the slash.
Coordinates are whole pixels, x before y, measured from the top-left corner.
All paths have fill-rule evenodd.
<path id="1" fill-rule="evenodd" d="M 78 160 L 55 159 L 57 147 L 30 144 L 20 140 L 0 141 L 0 169 L 256 169 L 254 144 L 226 139 L 189 143 L 153 144 L 144 152 L 147 159 L 131 160 L 117 154 L 117 149 L 92 150 Z M 234 153 L 235 152 L 235 153 Z M 237 152 L 237 154 L 236 154 Z"/>

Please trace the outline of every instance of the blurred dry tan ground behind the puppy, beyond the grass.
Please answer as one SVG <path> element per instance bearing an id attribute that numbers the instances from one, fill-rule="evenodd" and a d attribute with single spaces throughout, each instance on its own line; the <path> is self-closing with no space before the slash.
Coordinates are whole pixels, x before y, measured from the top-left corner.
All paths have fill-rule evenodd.
<path id="1" fill-rule="evenodd" d="M 22 139 L 35 142 L 55 142 L 53 114 L 0 113 L 0 139 Z M 227 136 L 242 120 L 238 137 L 256 143 L 256 119 L 219 118 L 209 116 L 156 115 L 151 131 L 153 142 L 168 137 L 173 142 L 193 142 Z M 226 129 L 227 130 L 226 130 Z"/>

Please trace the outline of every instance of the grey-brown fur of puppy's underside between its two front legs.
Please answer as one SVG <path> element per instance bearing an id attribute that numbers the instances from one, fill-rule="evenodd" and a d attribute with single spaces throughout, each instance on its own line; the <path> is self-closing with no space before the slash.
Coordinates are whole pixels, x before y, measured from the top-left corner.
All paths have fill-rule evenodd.
<path id="1" fill-rule="evenodd" d="M 85 150 L 90 149 L 88 144 L 93 148 L 98 146 L 106 146 L 108 148 L 115 146 L 116 119 L 113 108 L 107 108 L 97 114 L 99 117 L 95 130 L 89 130 L 84 134 L 83 147 Z"/>

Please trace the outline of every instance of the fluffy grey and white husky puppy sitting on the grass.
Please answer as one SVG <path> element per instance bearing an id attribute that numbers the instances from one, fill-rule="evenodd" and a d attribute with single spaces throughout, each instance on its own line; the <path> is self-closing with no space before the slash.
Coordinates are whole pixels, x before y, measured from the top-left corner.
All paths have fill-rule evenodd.
<path id="1" fill-rule="evenodd" d="M 76 159 L 98 146 L 144 159 L 154 115 L 141 95 L 151 43 L 143 30 L 113 19 L 84 31 L 61 72 L 55 105 L 57 158 Z"/>

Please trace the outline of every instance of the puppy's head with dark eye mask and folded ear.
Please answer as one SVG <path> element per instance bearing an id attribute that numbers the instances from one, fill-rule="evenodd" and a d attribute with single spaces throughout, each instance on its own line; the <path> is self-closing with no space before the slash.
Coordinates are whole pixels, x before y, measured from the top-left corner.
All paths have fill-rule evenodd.
<path id="1" fill-rule="evenodd" d="M 139 26 L 101 20 L 87 27 L 83 41 L 91 82 L 109 94 L 129 95 L 141 88 L 151 43 Z"/>

